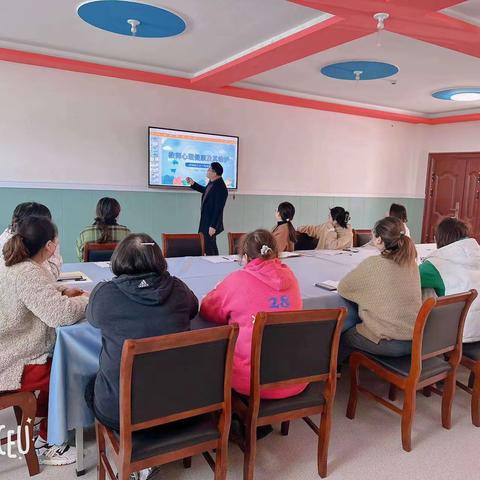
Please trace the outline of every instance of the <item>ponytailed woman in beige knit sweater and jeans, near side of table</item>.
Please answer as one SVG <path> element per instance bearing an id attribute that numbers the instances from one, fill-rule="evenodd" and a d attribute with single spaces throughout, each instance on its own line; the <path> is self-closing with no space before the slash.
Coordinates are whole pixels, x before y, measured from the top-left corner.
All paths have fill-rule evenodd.
<path id="1" fill-rule="evenodd" d="M 376 223 L 373 242 L 380 255 L 364 260 L 338 285 L 342 297 L 358 304 L 362 320 L 342 335 L 342 359 L 353 350 L 392 357 L 411 352 L 422 305 L 415 244 L 395 217 Z"/>

